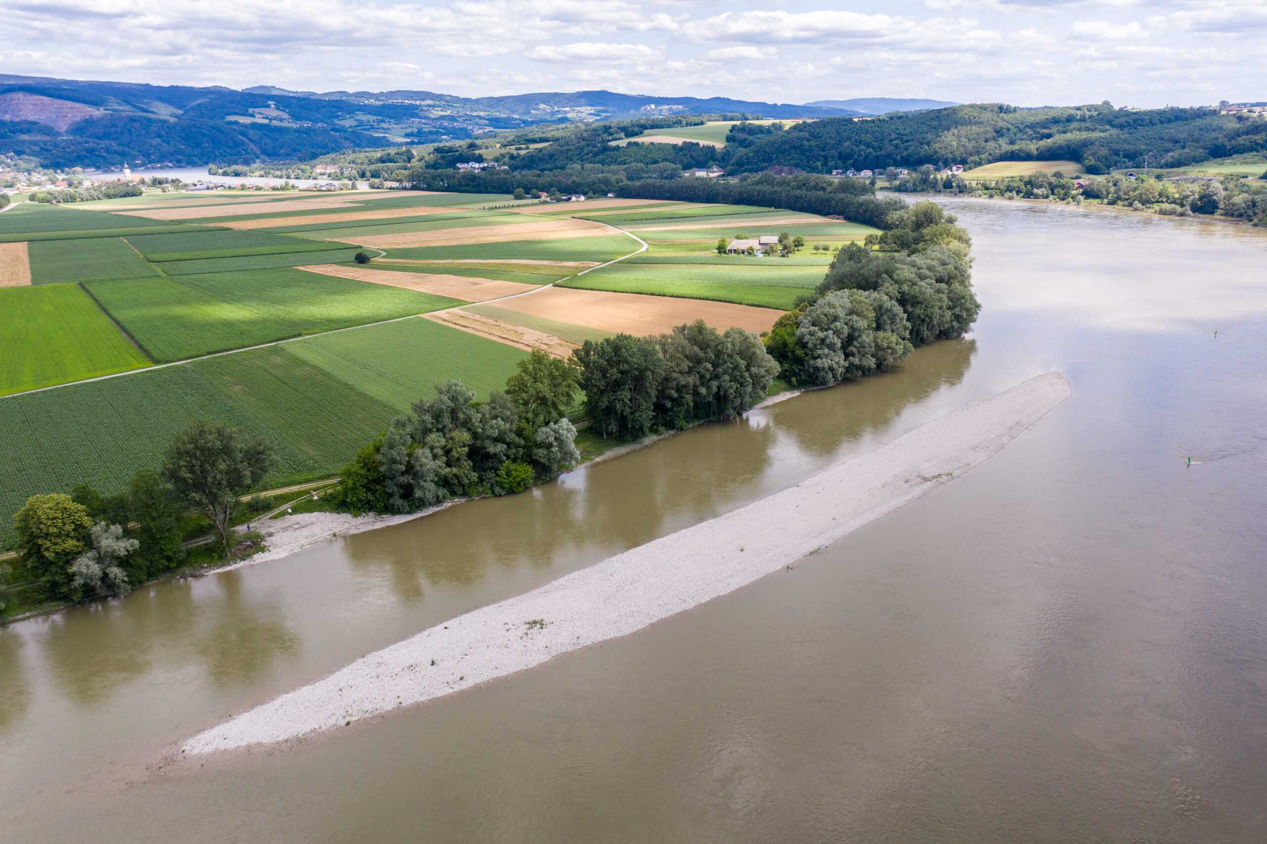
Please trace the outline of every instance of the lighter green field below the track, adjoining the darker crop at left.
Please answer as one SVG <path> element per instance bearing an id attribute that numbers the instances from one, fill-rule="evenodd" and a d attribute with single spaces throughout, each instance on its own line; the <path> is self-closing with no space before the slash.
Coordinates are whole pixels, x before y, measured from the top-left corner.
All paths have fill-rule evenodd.
<path id="1" fill-rule="evenodd" d="M 500 390 L 527 352 L 430 319 L 402 319 L 312 337 L 286 350 L 407 412 L 436 381 L 460 379 L 480 398 Z"/>

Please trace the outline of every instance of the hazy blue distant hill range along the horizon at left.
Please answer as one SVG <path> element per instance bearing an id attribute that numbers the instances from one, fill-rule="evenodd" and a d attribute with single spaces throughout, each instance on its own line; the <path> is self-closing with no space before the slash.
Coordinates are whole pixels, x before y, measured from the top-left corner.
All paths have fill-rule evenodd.
<path id="1" fill-rule="evenodd" d="M 46 167 L 255 163 L 551 123 L 687 114 L 827 118 L 862 112 L 602 90 L 465 98 L 426 90 L 317 93 L 256 85 L 237 91 L 0 74 L 0 124 L 24 127 L 0 131 L 0 153 Z M 30 132 L 30 124 L 42 128 Z"/>

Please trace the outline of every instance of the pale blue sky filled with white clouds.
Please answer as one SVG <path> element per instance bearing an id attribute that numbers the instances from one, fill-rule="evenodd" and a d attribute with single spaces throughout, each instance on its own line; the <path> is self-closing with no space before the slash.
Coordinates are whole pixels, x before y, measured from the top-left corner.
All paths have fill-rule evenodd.
<path id="1" fill-rule="evenodd" d="M 806 103 L 1267 100 L 1267 0 L 3 0 L 0 72 Z"/>

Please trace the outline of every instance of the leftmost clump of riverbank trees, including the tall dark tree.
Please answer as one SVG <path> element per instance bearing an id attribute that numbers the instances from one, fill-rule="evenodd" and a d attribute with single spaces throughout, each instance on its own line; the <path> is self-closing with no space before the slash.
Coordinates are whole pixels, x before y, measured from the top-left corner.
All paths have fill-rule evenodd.
<path id="1" fill-rule="evenodd" d="M 191 509 L 212 521 L 227 555 L 242 496 L 272 464 L 266 442 L 195 423 L 172 440 L 161 473 L 138 471 L 120 493 L 81 484 L 70 496 L 32 496 L 14 516 L 22 574 L 53 601 L 125 594 L 185 560 Z"/>

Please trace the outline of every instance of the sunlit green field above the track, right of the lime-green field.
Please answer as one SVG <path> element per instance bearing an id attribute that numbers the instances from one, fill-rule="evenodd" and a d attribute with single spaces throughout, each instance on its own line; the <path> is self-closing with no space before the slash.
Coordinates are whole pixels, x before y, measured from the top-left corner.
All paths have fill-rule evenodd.
<path id="1" fill-rule="evenodd" d="M 157 361 L 460 304 L 417 290 L 286 269 L 92 281 L 86 286 Z"/>

